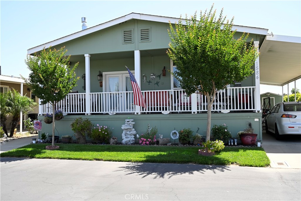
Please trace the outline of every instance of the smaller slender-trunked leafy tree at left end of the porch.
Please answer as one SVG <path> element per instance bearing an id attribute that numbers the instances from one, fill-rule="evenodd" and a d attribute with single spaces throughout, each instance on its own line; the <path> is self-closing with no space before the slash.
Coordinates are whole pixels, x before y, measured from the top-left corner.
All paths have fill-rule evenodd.
<path id="1" fill-rule="evenodd" d="M 26 84 L 40 100 L 41 104 L 52 106 L 52 147 L 54 147 L 55 105 L 63 100 L 77 85 L 79 77 L 74 70 L 78 63 L 70 67 L 70 55 L 66 56 L 65 47 L 43 50 L 34 56 L 27 55 L 25 63 L 31 71 L 29 78 L 23 78 Z"/>

